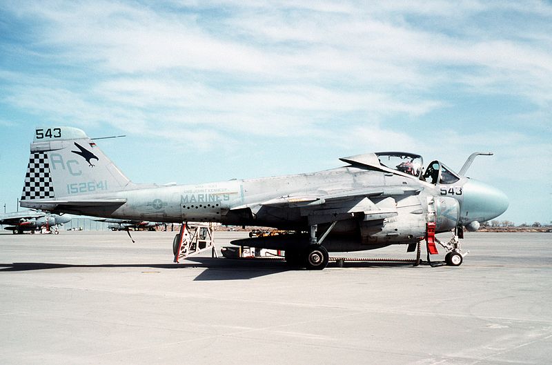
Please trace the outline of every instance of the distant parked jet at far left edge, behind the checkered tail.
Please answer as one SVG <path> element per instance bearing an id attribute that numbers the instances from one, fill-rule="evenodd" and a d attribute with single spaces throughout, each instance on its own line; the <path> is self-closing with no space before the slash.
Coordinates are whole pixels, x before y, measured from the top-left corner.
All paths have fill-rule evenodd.
<path id="1" fill-rule="evenodd" d="M 70 217 L 38 212 L 36 210 L 24 210 L 21 212 L 0 214 L 0 224 L 8 225 L 4 227 L 13 233 L 23 233 L 23 231 L 34 231 L 43 227 L 55 228 L 59 224 L 70 221 Z M 57 233 L 57 230 L 54 230 Z"/>

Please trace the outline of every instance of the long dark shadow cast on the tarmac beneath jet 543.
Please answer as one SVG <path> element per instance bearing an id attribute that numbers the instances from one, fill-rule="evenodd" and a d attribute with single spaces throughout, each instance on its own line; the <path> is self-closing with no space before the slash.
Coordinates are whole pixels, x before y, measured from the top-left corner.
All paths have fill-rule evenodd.
<path id="1" fill-rule="evenodd" d="M 346 268 L 368 268 L 368 267 L 397 267 L 410 266 L 404 263 L 377 263 L 377 262 L 351 262 Z M 329 264 L 328 268 L 337 267 Z M 19 272 L 32 270 L 50 270 L 57 268 L 162 268 L 181 269 L 205 268 L 195 281 L 219 281 L 219 280 L 245 280 L 283 273 L 290 270 L 305 270 L 301 268 L 290 268 L 283 261 L 277 260 L 249 260 L 249 259 L 213 259 L 210 257 L 193 257 L 186 259 L 181 264 L 55 264 L 47 262 L 14 262 L 12 264 L 0 264 L 0 273 Z"/>

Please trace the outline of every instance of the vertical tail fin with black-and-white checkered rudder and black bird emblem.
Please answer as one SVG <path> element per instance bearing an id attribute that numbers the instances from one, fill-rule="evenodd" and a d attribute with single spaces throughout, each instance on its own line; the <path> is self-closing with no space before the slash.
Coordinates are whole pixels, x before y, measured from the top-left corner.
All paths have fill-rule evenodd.
<path id="1" fill-rule="evenodd" d="M 103 195 L 132 185 L 82 130 L 37 128 L 21 201 Z"/>

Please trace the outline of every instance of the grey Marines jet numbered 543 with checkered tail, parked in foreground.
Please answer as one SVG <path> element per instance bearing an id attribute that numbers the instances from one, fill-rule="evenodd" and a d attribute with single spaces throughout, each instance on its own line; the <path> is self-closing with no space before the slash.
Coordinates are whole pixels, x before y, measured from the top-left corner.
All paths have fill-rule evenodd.
<path id="1" fill-rule="evenodd" d="M 77 149 L 75 149 L 75 147 Z M 309 269 L 328 264 L 328 251 L 371 250 L 422 240 L 437 253 L 435 233 L 451 231 L 446 262 L 462 264 L 457 236 L 476 230 L 508 208 L 499 190 L 466 177 L 440 161 L 425 172 L 420 155 L 377 152 L 344 157 L 331 170 L 208 184 L 134 184 L 85 132 L 39 128 L 21 206 L 59 213 L 163 222 L 217 221 L 269 226 L 295 235 L 233 241 L 285 250 L 286 261 Z M 95 159 L 95 164 L 90 159 Z"/>

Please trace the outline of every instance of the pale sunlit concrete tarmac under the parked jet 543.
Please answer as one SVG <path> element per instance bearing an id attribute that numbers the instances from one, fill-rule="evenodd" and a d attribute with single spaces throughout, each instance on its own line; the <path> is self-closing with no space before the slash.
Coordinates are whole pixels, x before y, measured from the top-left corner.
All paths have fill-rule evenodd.
<path id="1" fill-rule="evenodd" d="M 467 233 L 457 268 L 322 271 L 172 264 L 174 234 L 1 234 L 0 364 L 552 363 L 550 233 Z"/>

